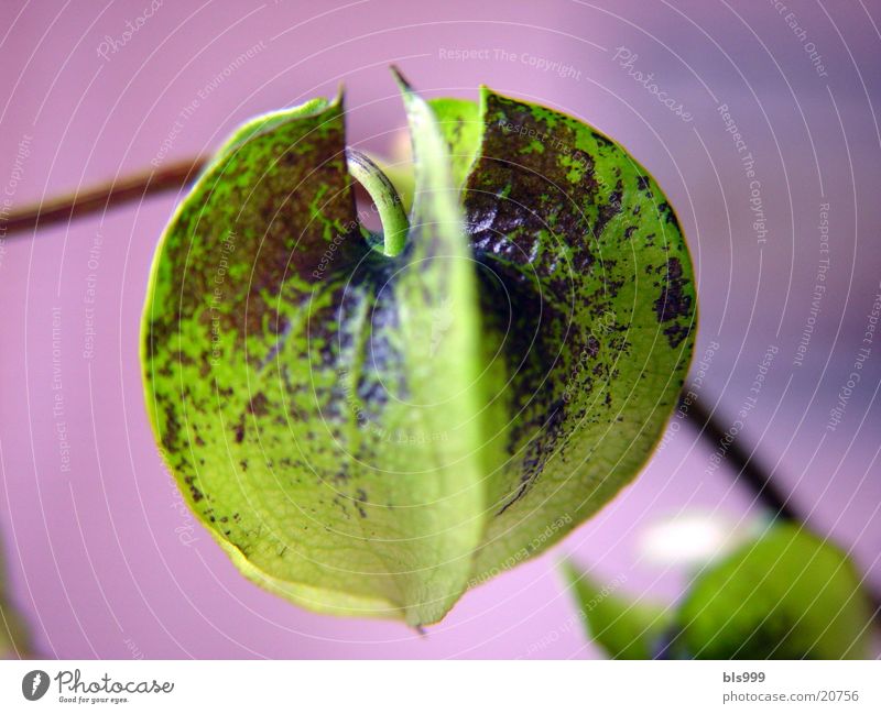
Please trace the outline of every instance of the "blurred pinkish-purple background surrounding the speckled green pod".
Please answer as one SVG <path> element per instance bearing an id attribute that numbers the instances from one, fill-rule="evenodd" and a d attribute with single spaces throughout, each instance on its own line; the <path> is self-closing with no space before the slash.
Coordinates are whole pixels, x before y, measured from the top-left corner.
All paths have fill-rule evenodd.
<path id="1" fill-rule="evenodd" d="M 387 149 L 403 112 L 387 65 L 426 95 L 475 97 L 480 83 L 585 118 L 655 175 L 693 246 L 701 297 L 697 355 L 717 340 L 701 388 L 722 420 L 779 353 L 746 438 L 779 469 L 795 505 L 852 548 L 881 586 L 881 336 L 841 424 L 826 428 L 881 277 L 881 6 L 791 0 L 800 37 L 770 2 L 171 2 L 107 58 L 150 0 L 0 7 L 0 200 L 11 207 L 216 147 L 247 118 L 347 87 L 350 143 Z M 88 8 L 88 9 L 87 9 Z M 262 44 L 261 44 L 262 43 Z M 818 76 L 806 43 L 822 54 Z M 226 73 L 236 57 L 252 58 Z M 682 102 L 685 122 L 613 59 Z M 448 50 L 489 50 L 455 62 Z M 516 53 L 497 59 L 496 50 Z M 811 47 L 808 47 L 811 50 Z M 523 56 L 526 62 L 523 62 Z M 572 65 L 561 77 L 529 57 Z M 222 79 L 205 91 L 215 77 Z M 204 98 L 199 99 L 199 92 Z M 180 112 L 198 107 L 175 130 Z M 755 160 L 766 243 L 718 106 Z M 26 155 L 25 155 L 26 154 Z M 12 593 L 37 650 L 68 658 L 596 657 L 555 569 L 572 554 L 622 592 L 673 600 L 681 569 L 638 547 L 659 518 L 753 518 L 751 495 L 686 425 L 642 476 L 553 552 L 466 595 L 420 637 L 403 625 L 301 611 L 241 578 L 194 526 L 162 468 L 143 409 L 141 303 L 177 197 L 6 239 L 0 248 L 0 531 Z M 830 204 L 830 268 L 805 362 L 793 365 Z M 2 204 L 0 204 L 2 206 Z M 100 249 L 90 254 L 96 238 Z M 95 259 L 97 264 L 89 265 Z M 84 356 L 87 276 L 96 337 Z M 53 388 L 59 308 L 61 389 Z M 56 395 L 64 415 L 53 414 Z M 69 471 L 56 426 L 67 427 Z"/>

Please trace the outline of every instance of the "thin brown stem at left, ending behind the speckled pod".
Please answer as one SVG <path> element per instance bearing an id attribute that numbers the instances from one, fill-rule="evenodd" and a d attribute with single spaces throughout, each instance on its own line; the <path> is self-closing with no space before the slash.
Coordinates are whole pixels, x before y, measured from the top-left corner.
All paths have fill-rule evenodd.
<path id="1" fill-rule="evenodd" d="M 13 211 L 4 221 L 0 219 L 0 233 L 3 229 L 6 235 L 11 235 L 53 223 L 66 223 L 153 194 L 177 189 L 193 180 L 204 166 L 204 158 L 187 158 L 122 177 L 112 184 L 101 184 L 70 196 L 28 206 L 20 211 Z"/>

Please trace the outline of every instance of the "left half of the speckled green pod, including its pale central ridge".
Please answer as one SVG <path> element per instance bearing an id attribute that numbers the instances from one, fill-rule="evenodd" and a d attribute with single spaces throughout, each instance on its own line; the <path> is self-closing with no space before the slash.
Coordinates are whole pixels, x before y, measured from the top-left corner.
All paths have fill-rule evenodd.
<path id="1" fill-rule="evenodd" d="M 338 101 L 264 119 L 165 232 L 144 363 L 168 465 L 248 576 L 418 625 L 466 587 L 489 466 L 474 264 L 434 119 L 405 97 L 405 250 L 361 238 Z"/>

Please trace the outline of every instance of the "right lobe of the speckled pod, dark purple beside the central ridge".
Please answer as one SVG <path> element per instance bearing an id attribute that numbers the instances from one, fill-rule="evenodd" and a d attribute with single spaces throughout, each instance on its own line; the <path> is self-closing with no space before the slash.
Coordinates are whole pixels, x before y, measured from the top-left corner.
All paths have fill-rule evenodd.
<path id="1" fill-rule="evenodd" d="M 639 473 L 688 369 L 696 299 L 676 216 L 619 144 L 486 88 L 480 116 L 464 205 L 511 415 L 483 579 L 559 540 Z"/>

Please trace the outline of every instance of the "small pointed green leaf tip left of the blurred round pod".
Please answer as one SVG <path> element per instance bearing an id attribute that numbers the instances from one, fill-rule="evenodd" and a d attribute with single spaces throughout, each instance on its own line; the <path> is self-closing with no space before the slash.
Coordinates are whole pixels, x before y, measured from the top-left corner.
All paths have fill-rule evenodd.
<path id="1" fill-rule="evenodd" d="M 654 604 L 632 602 L 617 594 L 619 583 L 600 585 L 566 563 L 564 573 L 574 590 L 585 630 L 611 659 L 652 659 L 671 614 Z"/>

